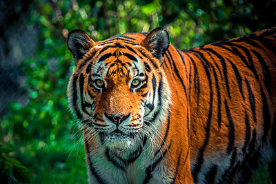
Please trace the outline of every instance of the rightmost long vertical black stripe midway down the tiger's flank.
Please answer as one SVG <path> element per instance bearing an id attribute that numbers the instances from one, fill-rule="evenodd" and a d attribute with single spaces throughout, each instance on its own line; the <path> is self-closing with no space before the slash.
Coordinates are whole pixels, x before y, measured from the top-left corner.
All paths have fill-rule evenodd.
<path id="1" fill-rule="evenodd" d="M 264 134 L 263 141 L 267 141 L 268 131 L 270 129 L 270 112 L 268 107 L 268 102 L 266 100 L 266 94 L 264 94 L 264 90 L 261 88 L 261 96 L 262 96 L 262 105 L 263 105 L 263 119 L 264 119 Z"/>

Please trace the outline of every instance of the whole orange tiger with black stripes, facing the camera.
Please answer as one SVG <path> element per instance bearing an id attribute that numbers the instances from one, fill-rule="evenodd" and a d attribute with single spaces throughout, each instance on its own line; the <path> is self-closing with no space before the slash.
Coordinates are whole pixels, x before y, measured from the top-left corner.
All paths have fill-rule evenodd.
<path id="1" fill-rule="evenodd" d="M 276 183 L 276 28 L 180 50 L 168 32 L 68 33 L 89 183 Z"/>

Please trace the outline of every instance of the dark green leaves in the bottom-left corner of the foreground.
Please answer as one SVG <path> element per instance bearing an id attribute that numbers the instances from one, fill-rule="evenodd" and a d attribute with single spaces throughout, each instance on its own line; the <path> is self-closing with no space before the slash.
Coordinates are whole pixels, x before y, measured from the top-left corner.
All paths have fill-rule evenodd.
<path id="1" fill-rule="evenodd" d="M 30 172 L 28 168 L 22 165 L 17 159 L 9 156 L 14 148 L 10 144 L 0 144 L 0 182 L 1 183 L 15 183 L 15 182 L 29 182 Z"/>

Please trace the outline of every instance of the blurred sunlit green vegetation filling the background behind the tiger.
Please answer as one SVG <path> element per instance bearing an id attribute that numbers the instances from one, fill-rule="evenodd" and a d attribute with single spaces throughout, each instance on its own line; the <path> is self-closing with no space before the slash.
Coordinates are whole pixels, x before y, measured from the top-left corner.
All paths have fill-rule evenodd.
<path id="1" fill-rule="evenodd" d="M 33 1 L 29 23 L 39 25 L 39 45 L 21 63 L 22 88 L 30 101 L 10 103 L 1 118 L 0 177 L 9 183 L 87 183 L 81 130 L 67 108 L 66 88 L 75 67 L 68 31 L 82 29 L 100 41 L 163 27 L 173 45 L 191 48 L 276 25 L 273 7 L 275 1 L 248 0 Z M 270 183 L 266 167 L 250 182 Z"/>

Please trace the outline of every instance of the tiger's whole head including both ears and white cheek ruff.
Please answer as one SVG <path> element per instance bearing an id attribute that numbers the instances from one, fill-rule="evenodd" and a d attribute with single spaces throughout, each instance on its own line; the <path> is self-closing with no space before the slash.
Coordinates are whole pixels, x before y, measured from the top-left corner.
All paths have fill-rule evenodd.
<path id="1" fill-rule="evenodd" d="M 146 37 L 122 34 L 99 42 L 82 30 L 69 32 L 76 65 L 69 108 L 101 144 L 124 150 L 157 134 L 170 104 L 161 66 L 168 46 L 168 32 L 161 28 Z"/>

